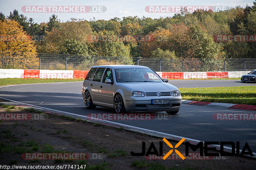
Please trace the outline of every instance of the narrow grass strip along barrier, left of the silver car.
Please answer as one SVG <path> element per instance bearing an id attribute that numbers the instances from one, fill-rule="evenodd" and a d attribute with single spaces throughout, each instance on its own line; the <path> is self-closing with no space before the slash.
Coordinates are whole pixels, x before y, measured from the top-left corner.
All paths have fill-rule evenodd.
<path id="1" fill-rule="evenodd" d="M 55 82 L 74 82 L 83 79 L 57 79 L 57 78 L 1 78 L 0 85 L 17 85 L 32 83 L 55 83 Z"/>

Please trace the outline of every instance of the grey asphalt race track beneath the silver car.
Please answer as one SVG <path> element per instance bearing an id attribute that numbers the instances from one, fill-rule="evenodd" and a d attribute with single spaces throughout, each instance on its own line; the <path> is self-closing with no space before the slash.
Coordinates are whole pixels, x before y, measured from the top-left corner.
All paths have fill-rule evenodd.
<path id="1" fill-rule="evenodd" d="M 241 83 L 238 80 L 170 80 L 169 83 L 178 88 L 256 85 L 253 83 Z M 95 109 L 86 109 L 81 92 L 82 82 L 28 84 L 1 87 L 0 97 L 79 115 L 114 113 L 114 110 L 110 108 L 96 107 Z M 243 147 L 245 142 L 248 142 L 252 152 L 256 152 L 255 120 L 214 120 L 212 116 L 216 113 L 256 114 L 255 111 L 181 105 L 180 112 L 177 115 L 165 115 L 165 112 L 157 112 L 153 113 L 155 115 L 154 120 L 113 122 L 201 141 L 239 141 L 240 147 Z M 165 117 L 162 115 L 165 115 Z M 163 120 L 163 118 L 167 120 Z"/>

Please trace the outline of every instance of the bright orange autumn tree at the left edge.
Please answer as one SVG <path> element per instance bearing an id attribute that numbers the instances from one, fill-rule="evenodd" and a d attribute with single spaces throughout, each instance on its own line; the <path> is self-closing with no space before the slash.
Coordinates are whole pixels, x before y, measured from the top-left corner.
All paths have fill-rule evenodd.
<path id="1" fill-rule="evenodd" d="M 33 69 L 38 66 L 34 41 L 32 41 L 31 36 L 22 30 L 18 22 L 10 19 L 0 20 L 0 35 L 2 35 L 0 65 L 3 68 L 10 68 L 9 63 L 11 63 L 12 54 L 14 55 L 15 52 L 14 68 Z"/>

